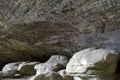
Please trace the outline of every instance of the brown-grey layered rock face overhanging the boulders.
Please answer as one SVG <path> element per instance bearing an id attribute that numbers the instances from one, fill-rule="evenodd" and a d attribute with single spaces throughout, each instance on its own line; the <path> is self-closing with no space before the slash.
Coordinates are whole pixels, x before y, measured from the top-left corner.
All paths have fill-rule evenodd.
<path id="1" fill-rule="evenodd" d="M 120 51 L 119 13 L 119 0 L 1 0 L 0 65 L 87 47 Z"/>

